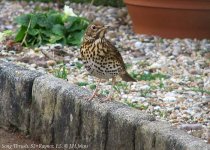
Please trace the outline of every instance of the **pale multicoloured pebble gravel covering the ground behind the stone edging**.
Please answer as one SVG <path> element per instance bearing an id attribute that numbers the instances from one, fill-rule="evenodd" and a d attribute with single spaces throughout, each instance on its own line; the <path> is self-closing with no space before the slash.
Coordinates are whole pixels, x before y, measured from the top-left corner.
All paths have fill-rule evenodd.
<path id="1" fill-rule="evenodd" d="M 157 119 L 167 120 L 171 125 L 186 130 L 193 136 L 210 143 L 210 40 L 164 39 L 158 36 L 137 35 L 126 8 L 90 6 L 68 3 L 76 14 L 90 20 L 99 20 L 111 28 L 107 38 L 118 48 L 128 67 L 128 72 L 139 80 L 126 83 L 118 79 L 114 99 L 141 111 L 154 114 Z M 57 8 L 56 4 L 38 2 L 0 3 L 0 31 L 16 30 L 13 18 L 32 12 L 40 7 Z M 78 47 L 44 45 L 39 48 L 23 48 L 21 51 L 7 50 L 0 44 L 0 59 L 53 73 L 60 64 L 46 58 L 41 50 L 68 51 L 63 57 L 68 70 L 68 82 L 94 89 L 96 78 L 89 76 L 81 65 Z M 142 75 L 157 75 L 149 79 Z M 111 82 L 100 84 L 101 94 L 106 95 Z"/>

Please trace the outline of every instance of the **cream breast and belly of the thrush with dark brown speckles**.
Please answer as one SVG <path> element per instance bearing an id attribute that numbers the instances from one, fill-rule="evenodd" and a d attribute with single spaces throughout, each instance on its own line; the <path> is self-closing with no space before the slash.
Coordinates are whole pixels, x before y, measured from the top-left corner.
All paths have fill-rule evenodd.
<path id="1" fill-rule="evenodd" d="M 122 69 L 120 63 L 108 55 L 108 50 L 100 39 L 92 43 L 86 42 L 80 52 L 85 68 L 93 76 L 109 79 L 118 75 Z"/>

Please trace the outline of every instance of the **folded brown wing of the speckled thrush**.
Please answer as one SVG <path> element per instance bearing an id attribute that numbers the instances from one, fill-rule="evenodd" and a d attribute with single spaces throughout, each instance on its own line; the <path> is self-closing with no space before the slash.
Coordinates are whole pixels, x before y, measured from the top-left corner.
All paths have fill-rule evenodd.
<path id="1" fill-rule="evenodd" d="M 120 52 L 117 50 L 117 48 L 108 40 L 106 41 L 106 46 L 107 46 L 106 55 L 116 59 L 121 64 L 122 68 L 125 69 L 125 63 L 123 61 L 123 58 Z"/>

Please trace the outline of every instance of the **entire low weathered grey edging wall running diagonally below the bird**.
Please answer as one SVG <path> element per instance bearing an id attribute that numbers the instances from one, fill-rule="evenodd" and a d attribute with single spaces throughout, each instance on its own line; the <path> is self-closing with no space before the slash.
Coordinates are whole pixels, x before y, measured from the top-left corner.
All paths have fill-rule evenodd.
<path id="1" fill-rule="evenodd" d="M 0 127 L 43 144 L 89 150 L 208 150 L 210 145 L 118 102 L 87 101 L 90 92 L 62 79 L 0 63 Z"/>

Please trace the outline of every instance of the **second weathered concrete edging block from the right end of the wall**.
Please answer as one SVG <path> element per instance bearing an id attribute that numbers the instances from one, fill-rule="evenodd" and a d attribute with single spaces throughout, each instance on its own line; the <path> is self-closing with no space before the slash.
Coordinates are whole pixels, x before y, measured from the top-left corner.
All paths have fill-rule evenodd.
<path id="1" fill-rule="evenodd" d="M 106 149 L 135 149 L 135 131 L 144 121 L 153 121 L 152 115 L 122 106 L 108 115 L 108 140 Z"/>

